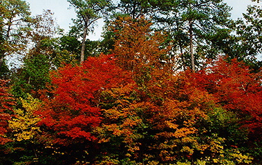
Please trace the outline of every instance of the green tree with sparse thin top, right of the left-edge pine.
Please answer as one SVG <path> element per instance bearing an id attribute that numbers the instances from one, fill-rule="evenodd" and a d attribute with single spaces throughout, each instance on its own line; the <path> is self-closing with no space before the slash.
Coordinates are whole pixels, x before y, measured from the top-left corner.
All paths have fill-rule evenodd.
<path id="1" fill-rule="evenodd" d="M 27 39 L 32 47 L 24 56 L 24 64 L 12 76 L 12 94 L 27 98 L 27 93 L 37 96 L 37 91 L 46 89 L 49 82 L 48 72 L 64 61 L 62 51 L 59 51 L 58 26 L 50 10 L 37 15 L 27 31 Z M 69 57 L 68 57 L 69 58 Z"/>

